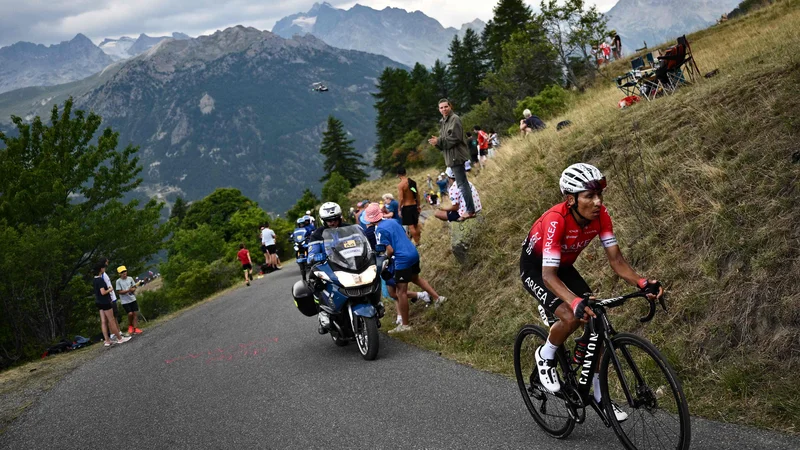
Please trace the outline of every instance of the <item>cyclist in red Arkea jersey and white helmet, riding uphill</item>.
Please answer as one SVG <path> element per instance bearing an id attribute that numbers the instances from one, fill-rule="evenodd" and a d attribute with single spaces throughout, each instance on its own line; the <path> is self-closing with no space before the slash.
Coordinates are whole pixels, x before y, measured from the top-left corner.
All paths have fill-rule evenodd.
<path id="1" fill-rule="evenodd" d="M 657 297 L 663 295 L 657 280 L 648 280 L 636 273 L 622 256 L 611 217 L 603 205 L 606 178 L 600 170 L 590 164 L 573 164 L 561 174 L 559 184 L 565 201 L 550 208 L 533 224 L 522 244 L 520 257 L 520 277 L 525 289 L 548 313 L 559 319 L 550 327 L 547 342 L 536 350 L 539 379 L 552 392 L 561 389 L 554 360 L 556 350 L 582 322 L 595 316 L 582 297 L 591 289 L 573 267 L 578 255 L 595 236 L 600 236 L 608 262 L 617 275 L 640 289 L 648 285 L 654 289 L 655 283 Z M 599 402 L 597 374 L 593 389 L 595 400 Z M 627 415 L 620 410 L 617 417 L 624 420 Z"/>

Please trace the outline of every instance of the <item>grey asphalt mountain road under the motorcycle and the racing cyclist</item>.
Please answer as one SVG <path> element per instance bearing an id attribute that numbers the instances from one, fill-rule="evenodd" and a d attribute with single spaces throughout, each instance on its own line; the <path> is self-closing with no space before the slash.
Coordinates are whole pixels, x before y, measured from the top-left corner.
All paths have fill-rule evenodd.
<path id="1" fill-rule="evenodd" d="M 333 345 L 272 273 L 59 382 L 0 436 L 40 448 L 621 448 L 593 413 L 544 435 L 515 382 L 381 335 L 376 361 Z M 510 348 L 510 345 L 509 345 Z M 797 449 L 800 439 L 695 420 L 697 449 Z"/>

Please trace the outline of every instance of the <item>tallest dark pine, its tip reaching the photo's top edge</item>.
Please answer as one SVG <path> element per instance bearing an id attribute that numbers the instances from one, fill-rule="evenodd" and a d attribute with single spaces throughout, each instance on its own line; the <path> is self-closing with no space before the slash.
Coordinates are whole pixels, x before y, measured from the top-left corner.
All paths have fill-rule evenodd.
<path id="1" fill-rule="evenodd" d="M 525 30 L 532 12 L 522 0 L 500 0 L 493 11 L 494 17 L 483 29 L 482 41 L 486 58 L 497 72 L 503 64 L 503 43 L 512 34 Z"/>

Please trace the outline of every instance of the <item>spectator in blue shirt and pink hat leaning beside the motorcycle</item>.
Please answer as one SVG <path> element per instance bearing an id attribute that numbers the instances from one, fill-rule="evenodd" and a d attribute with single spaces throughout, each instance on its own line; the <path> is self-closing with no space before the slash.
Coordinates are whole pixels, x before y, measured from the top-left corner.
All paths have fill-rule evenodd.
<path id="1" fill-rule="evenodd" d="M 367 206 L 364 212 L 367 222 L 375 227 L 378 245 L 386 247 L 386 257 L 394 256 L 397 310 L 400 313 L 401 323 L 389 333 L 409 331 L 411 326 L 408 324 L 408 283 L 414 283 L 425 290 L 435 300 L 436 307 L 447 301 L 447 298 L 437 294 L 431 285 L 419 276 L 419 253 L 403 230 L 403 226 L 395 220 L 384 220 L 380 207 L 375 203 Z"/>

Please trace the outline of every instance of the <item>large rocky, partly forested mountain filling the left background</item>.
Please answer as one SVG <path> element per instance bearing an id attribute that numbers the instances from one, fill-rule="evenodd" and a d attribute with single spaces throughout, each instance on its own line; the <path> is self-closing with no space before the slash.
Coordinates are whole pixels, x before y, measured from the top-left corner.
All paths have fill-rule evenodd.
<path id="1" fill-rule="evenodd" d="M 140 146 L 141 194 L 195 200 L 235 187 L 282 213 L 305 188 L 319 192 L 319 144 L 329 114 L 369 155 L 371 94 L 386 67 L 399 66 L 311 35 L 284 39 L 237 26 L 162 41 L 71 85 L 0 95 L 0 109 L 44 117 L 52 102 L 72 93 L 77 108 L 97 112 L 104 127 L 120 132 L 120 145 Z M 318 81 L 329 91 L 313 91 Z"/>

